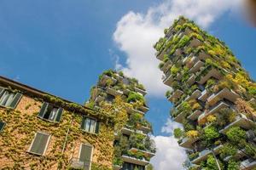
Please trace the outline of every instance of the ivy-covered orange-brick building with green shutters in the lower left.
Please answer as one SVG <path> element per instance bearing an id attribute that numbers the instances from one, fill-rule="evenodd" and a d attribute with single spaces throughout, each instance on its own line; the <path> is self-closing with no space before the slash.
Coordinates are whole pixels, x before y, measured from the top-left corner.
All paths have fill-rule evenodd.
<path id="1" fill-rule="evenodd" d="M 1 169 L 112 169 L 113 116 L 0 77 Z"/>

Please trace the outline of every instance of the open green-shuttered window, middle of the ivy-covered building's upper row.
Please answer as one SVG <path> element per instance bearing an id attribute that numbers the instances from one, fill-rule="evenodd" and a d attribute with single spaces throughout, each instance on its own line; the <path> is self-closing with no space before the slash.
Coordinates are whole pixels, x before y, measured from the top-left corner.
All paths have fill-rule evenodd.
<path id="1" fill-rule="evenodd" d="M 38 117 L 52 122 L 60 122 L 62 112 L 62 108 L 57 108 L 53 105 L 49 105 L 49 103 L 47 102 L 44 102 L 44 104 L 41 107 L 41 110 L 39 111 Z"/>

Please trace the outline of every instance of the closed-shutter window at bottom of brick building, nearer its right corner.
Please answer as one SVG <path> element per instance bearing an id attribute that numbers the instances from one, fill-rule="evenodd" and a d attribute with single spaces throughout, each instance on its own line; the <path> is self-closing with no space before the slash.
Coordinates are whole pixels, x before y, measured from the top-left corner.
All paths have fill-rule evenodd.
<path id="1" fill-rule="evenodd" d="M 90 144 L 81 144 L 79 150 L 79 161 L 84 163 L 84 170 L 90 170 L 93 147 Z"/>

